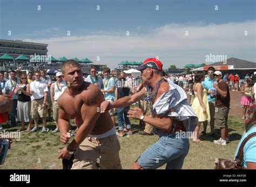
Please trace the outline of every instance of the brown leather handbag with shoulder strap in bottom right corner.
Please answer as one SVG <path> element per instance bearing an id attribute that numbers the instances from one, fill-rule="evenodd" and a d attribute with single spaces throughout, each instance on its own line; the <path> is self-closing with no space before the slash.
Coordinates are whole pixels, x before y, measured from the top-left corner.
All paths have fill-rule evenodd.
<path id="1" fill-rule="evenodd" d="M 225 158 L 216 158 L 215 160 L 215 169 L 246 169 L 242 167 L 242 155 L 244 154 L 244 146 L 250 138 L 256 136 L 256 133 L 252 133 L 248 135 L 241 143 L 238 154 L 235 157 L 235 162 L 231 160 L 227 160 Z"/>

